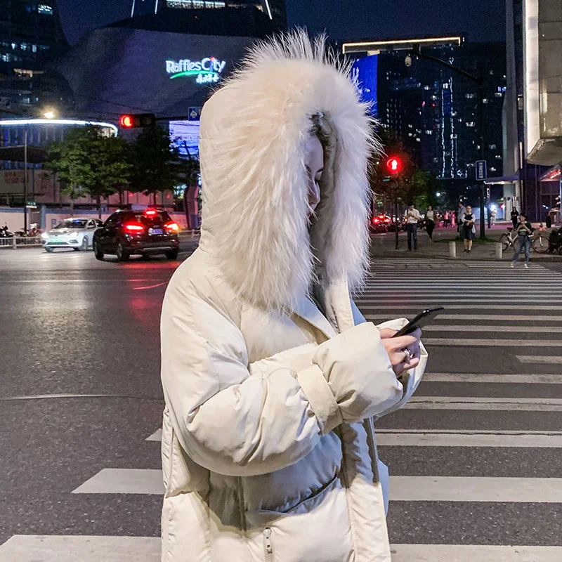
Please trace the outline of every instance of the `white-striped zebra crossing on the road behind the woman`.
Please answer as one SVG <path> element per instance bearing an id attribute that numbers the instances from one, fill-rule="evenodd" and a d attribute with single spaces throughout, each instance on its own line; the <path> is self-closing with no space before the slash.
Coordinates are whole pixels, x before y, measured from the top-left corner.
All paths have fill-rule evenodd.
<path id="1" fill-rule="evenodd" d="M 424 330 L 430 360 L 416 395 L 377 424 L 393 562 L 562 561 L 561 295 L 562 274 L 535 264 L 374 264 L 356 299 L 367 320 L 445 308 Z M 161 438 L 155 427 L 143 440 L 158 448 Z M 162 475 L 98 466 L 69 492 L 159 503 Z M 157 562 L 157 534 L 155 522 L 148 537 L 14 535 L 0 562 Z"/>

